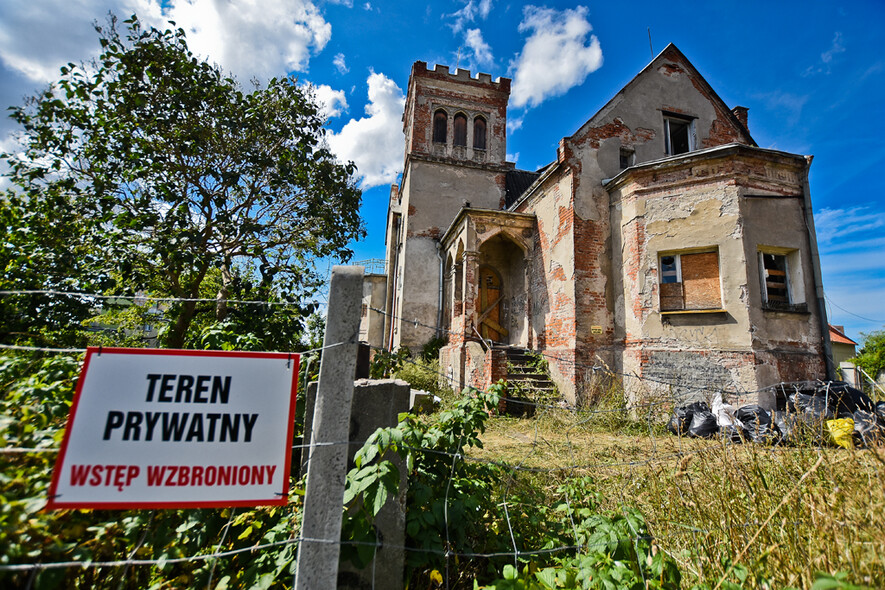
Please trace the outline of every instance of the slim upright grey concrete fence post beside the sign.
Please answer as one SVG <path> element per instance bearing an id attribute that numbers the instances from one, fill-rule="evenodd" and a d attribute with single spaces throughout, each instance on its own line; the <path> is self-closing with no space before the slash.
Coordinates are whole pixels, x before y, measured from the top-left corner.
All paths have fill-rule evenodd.
<path id="1" fill-rule="evenodd" d="M 350 431 L 362 292 L 363 267 L 332 268 L 323 360 L 308 449 L 310 466 L 302 541 L 295 566 L 296 590 L 334 590 L 337 584 L 347 475 L 346 441 Z"/>

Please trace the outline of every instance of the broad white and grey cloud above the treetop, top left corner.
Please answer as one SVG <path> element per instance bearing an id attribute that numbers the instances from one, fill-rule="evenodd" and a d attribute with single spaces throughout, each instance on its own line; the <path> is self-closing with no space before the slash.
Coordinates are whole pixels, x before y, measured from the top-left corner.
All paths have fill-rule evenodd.
<path id="1" fill-rule="evenodd" d="M 332 35 L 314 0 L 10 1 L 0 2 L 0 61 L 33 82 L 55 80 L 65 63 L 98 52 L 92 22 L 109 10 L 158 28 L 175 21 L 194 53 L 243 81 L 306 71 Z"/>

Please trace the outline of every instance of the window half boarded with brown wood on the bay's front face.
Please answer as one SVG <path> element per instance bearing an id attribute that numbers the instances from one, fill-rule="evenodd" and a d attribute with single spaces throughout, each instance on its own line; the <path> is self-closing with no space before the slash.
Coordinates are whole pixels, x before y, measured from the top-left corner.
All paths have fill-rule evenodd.
<path id="1" fill-rule="evenodd" d="M 718 253 L 665 254 L 659 268 L 661 311 L 722 307 Z"/>

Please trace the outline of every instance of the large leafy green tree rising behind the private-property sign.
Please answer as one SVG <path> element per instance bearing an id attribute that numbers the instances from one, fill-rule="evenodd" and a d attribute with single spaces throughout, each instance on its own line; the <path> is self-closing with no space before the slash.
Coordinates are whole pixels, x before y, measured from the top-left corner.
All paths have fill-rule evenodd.
<path id="1" fill-rule="evenodd" d="M 56 280 L 75 273 L 68 288 L 118 276 L 118 293 L 198 298 L 217 269 L 218 303 L 203 311 L 219 322 L 232 289 L 302 300 L 319 285 L 313 260 L 346 260 L 364 235 L 355 167 L 328 150 L 310 91 L 290 77 L 244 91 L 194 57 L 182 29 L 125 24 L 124 34 L 113 17 L 96 25 L 98 59 L 68 64 L 12 109 L 23 150 L 3 154 L 15 186 L 7 216 L 33 209 L 44 225 L 65 224 L 44 233 L 63 242 L 46 247 L 67 261 Z M 72 256 L 83 263 L 71 267 Z M 2 262 L 31 263 L 20 258 L 17 248 Z M 52 284 L 22 274 L 19 288 Z M 200 311 L 194 301 L 168 309 L 164 343 L 183 346 Z"/>

